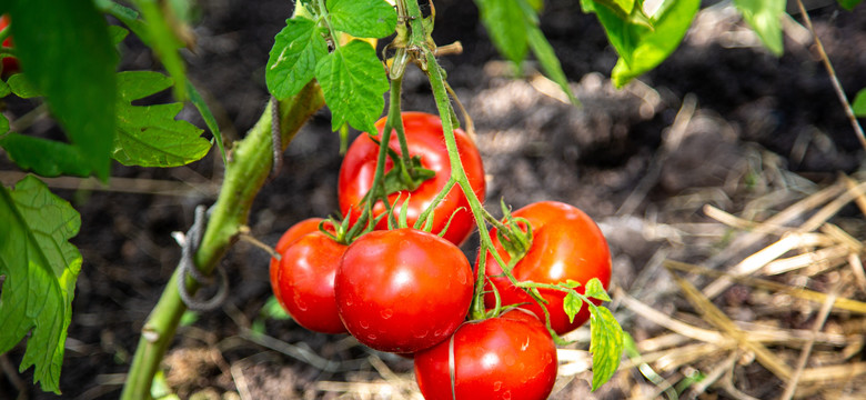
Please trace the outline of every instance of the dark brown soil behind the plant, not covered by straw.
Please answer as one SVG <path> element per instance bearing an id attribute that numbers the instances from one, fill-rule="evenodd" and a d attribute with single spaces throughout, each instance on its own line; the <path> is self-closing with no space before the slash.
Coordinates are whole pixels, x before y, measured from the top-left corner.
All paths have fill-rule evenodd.
<path id="1" fill-rule="evenodd" d="M 213 100 L 225 134 L 242 137 L 266 102 L 263 68 L 274 34 L 291 14 L 291 3 L 216 0 L 200 6 L 198 48 L 185 54 L 190 76 Z M 492 177 L 487 197 L 492 211 L 503 197 L 514 208 L 560 200 L 584 209 L 601 221 L 608 236 L 618 269 L 615 281 L 626 291 L 640 290 L 633 284 L 663 246 L 643 240 L 640 222 L 653 216 L 705 221 L 698 208 L 681 207 L 671 199 L 682 201 L 681 194 L 695 188 L 724 192 L 732 179 L 743 176 L 739 168 L 749 154 L 765 154 L 765 159 L 774 154 L 783 169 L 816 183 L 862 168 L 863 149 L 814 49 L 789 37 L 785 54 L 775 58 L 749 42 L 731 47 L 732 42 L 723 40 L 725 31 L 742 31 L 742 22 L 704 21 L 669 60 L 641 78 L 643 83 L 617 91 L 606 78 L 616 56 L 594 17 L 583 14 L 577 1 L 548 1 L 542 27 L 583 102 L 583 108 L 573 108 L 540 92 L 532 77 L 510 76 L 508 68 L 496 61 L 472 2 L 439 1 L 436 12 L 435 40 L 441 44 L 460 40 L 465 49 L 442 63 L 474 119 Z M 813 17 L 842 84 L 853 98 L 866 88 L 866 10 L 836 12 L 829 7 L 814 10 Z M 152 56 L 140 43 L 128 40 L 127 46 L 123 69 L 153 68 Z M 696 107 L 693 123 L 675 151 L 667 153 L 665 136 L 685 98 Z M 27 107 L 32 104 L 10 110 Z M 404 109 L 434 110 L 429 87 L 417 71 L 405 80 Z M 191 108 L 182 117 L 203 127 Z M 275 243 L 301 219 L 336 209 L 341 158 L 338 136 L 329 128 L 328 111 L 320 111 L 286 150 L 280 176 L 258 197 L 250 227 L 265 243 Z M 48 123 L 33 129 L 51 130 Z M 84 257 L 61 398 L 119 396 L 141 326 L 180 257 L 171 233 L 190 227 L 197 204 L 214 200 L 213 186 L 221 177 L 215 153 L 184 168 L 117 166 L 113 170 L 114 177 L 185 182 L 200 189 L 187 189 L 180 196 L 54 190 L 81 212 L 82 229 L 73 242 Z M 3 170 L 14 170 L 2 162 Z M 476 240 L 470 239 L 465 246 L 471 257 L 473 243 Z M 385 382 L 387 377 L 370 362 L 350 371 L 326 372 L 244 339 L 244 329 L 260 319 L 271 296 L 268 256 L 240 243 L 223 267 L 232 282 L 226 304 L 181 328 L 167 359 L 169 382 L 182 398 L 213 393 L 201 398 L 215 399 L 239 391 L 248 391 L 253 399 L 336 398 L 339 392 L 314 389 L 321 389 L 322 382 Z M 286 321 L 264 323 L 268 336 L 308 347 L 326 359 L 375 357 L 397 373 L 412 368 L 411 361 L 372 353 L 344 337 L 310 333 Z M 635 337 L 645 337 L 651 329 L 634 319 L 624 321 L 624 328 Z M 0 376 L 0 399 L 19 394 L 9 374 L 16 376 L 22 354 L 23 346 L 8 354 L 13 368 Z M 23 398 L 57 398 L 31 384 L 32 370 L 18 379 L 28 391 L 21 393 Z M 778 389 L 751 388 L 749 394 L 757 398 L 775 398 Z M 587 392 L 586 383 L 575 380 L 556 398 L 584 398 Z M 594 398 L 628 396 L 612 383 Z M 722 392 L 715 396 L 726 398 Z"/>

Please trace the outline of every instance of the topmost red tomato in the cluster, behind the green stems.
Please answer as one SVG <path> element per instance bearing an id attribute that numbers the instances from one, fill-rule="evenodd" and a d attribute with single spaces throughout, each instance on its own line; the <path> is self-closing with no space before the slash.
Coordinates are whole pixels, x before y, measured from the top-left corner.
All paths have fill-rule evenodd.
<path id="1" fill-rule="evenodd" d="M 384 126 L 385 118 L 376 122 L 380 134 Z M 392 204 L 397 201 L 397 196 L 400 196 L 399 204 L 394 204 L 394 217 L 400 216 L 402 202 L 409 197 L 406 214 L 409 226 L 411 227 L 427 206 L 432 203 L 433 198 L 445 187 L 451 177 L 451 164 L 449 163 L 449 153 L 443 139 L 442 121 L 437 116 L 423 112 L 403 112 L 403 126 L 410 154 L 420 156 L 421 164 L 436 173 L 434 178 L 424 181 L 410 193 L 403 190 L 389 196 L 389 201 Z M 470 186 L 475 196 L 479 197 L 479 200 L 484 201 L 484 167 L 482 166 L 481 154 L 479 154 L 479 150 L 472 142 L 472 139 L 463 130 L 455 129 L 454 136 L 457 141 L 457 152 L 460 153 L 461 162 L 463 162 L 463 169 L 469 177 Z M 394 132 L 391 136 L 391 148 L 401 153 L 400 142 Z M 349 213 L 350 208 L 353 219 L 361 216 L 362 209 L 358 206 L 373 184 L 377 158 L 379 146 L 366 133 L 358 137 L 349 148 L 343 159 L 343 164 L 340 167 L 339 183 L 340 210 L 344 216 Z M 389 158 L 385 171 L 390 171 L 392 166 L 393 162 Z M 469 201 L 459 187 L 455 186 L 436 207 L 432 231 L 433 233 L 442 231 L 455 210 L 456 214 L 451 221 L 451 226 L 449 226 L 445 239 L 460 246 L 472 232 L 472 229 L 475 227 L 475 220 L 470 211 Z M 381 201 L 377 202 L 373 208 L 373 213 L 381 216 L 384 212 L 384 204 Z M 376 229 L 387 229 L 387 220 L 383 218 L 376 226 Z"/>

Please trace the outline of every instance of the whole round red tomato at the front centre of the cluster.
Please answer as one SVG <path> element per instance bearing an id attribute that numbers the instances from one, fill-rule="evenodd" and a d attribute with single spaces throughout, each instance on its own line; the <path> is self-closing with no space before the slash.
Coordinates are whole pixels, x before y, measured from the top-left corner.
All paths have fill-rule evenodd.
<path id="1" fill-rule="evenodd" d="M 372 231 L 350 244 L 334 290 L 340 318 L 358 341 L 411 353 L 457 329 L 473 283 L 469 260 L 454 243 L 404 228 Z"/>

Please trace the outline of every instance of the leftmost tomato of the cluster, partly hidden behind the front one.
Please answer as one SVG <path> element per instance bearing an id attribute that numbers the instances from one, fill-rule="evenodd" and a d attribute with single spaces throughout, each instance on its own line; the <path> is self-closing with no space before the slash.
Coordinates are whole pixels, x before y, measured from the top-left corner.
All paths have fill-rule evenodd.
<path id="1" fill-rule="evenodd" d="M 276 268 L 272 264 L 271 287 L 276 300 L 300 326 L 322 333 L 342 333 L 345 328 L 336 313 L 334 273 L 346 246 L 320 232 L 318 227 L 319 221 L 309 219 L 283 234 L 289 244 L 284 244 Z M 290 241 L 294 233 L 304 230 L 309 233 Z"/>

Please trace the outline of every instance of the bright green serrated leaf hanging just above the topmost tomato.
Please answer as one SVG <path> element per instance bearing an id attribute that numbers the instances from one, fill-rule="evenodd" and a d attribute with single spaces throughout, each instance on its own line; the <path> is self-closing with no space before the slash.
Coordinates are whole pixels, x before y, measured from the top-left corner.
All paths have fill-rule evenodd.
<path id="1" fill-rule="evenodd" d="M 349 122 L 353 128 L 375 132 L 374 122 L 385 108 L 387 78 L 370 43 L 352 40 L 325 56 L 315 68 L 328 108 L 331 129 Z"/>

